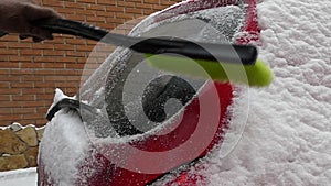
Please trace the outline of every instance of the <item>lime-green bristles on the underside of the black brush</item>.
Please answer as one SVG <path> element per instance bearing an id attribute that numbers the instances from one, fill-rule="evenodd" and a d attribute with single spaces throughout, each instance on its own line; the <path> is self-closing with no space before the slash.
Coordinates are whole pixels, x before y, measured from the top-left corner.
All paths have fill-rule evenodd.
<path id="1" fill-rule="evenodd" d="M 146 54 L 146 56 L 151 66 L 164 72 L 254 87 L 265 87 L 273 81 L 271 70 L 259 59 L 255 65 L 238 65 L 207 62 L 204 59 L 193 61 L 186 57 L 170 55 Z"/>

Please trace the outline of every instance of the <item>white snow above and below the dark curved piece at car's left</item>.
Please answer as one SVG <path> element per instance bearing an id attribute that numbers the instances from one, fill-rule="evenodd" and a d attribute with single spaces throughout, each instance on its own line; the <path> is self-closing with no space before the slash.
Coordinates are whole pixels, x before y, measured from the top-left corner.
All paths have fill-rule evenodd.
<path id="1" fill-rule="evenodd" d="M 62 98 L 67 98 L 67 96 L 56 89 L 54 102 Z M 57 114 L 61 117 L 56 117 Z M 54 134 L 58 134 L 58 138 Z M 43 153 L 39 154 L 39 158 L 46 164 L 45 173 L 54 178 L 55 183 L 53 184 L 60 186 L 72 184 L 77 174 L 76 165 L 79 161 L 85 160 L 88 146 L 88 138 L 78 113 L 71 110 L 58 111 L 46 124 L 40 144 L 40 152 Z"/>

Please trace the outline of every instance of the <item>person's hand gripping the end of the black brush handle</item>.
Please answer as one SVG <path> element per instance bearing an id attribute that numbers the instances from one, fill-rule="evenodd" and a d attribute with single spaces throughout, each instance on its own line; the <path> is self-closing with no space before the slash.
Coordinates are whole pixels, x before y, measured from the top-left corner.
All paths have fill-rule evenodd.
<path id="1" fill-rule="evenodd" d="M 33 26 L 33 21 L 62 18 L 53 9 L 38 6 L 34 0 L 1 0 L 0 31 L 18 33 L 20 39 L 32 37 L 34 42 L 52 40 L 51 32 Z"/>

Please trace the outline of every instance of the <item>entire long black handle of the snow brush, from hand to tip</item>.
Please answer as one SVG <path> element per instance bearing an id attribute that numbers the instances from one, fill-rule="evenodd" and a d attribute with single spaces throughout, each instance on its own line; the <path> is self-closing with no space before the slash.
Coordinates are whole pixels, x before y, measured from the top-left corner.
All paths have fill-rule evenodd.
<path id="1" fill-rule="evenodd" d="M 70 34 L 100 41 L 117 46 L 129 47 L 139 53 L 174 53 L 190 58 L 244 65 L 254 65 L 257 58 L 257 50 L 252 45 L 199 43 L 161 37 L 132 37 L 109 33 L 107 30 L 94 25 L 65 19 L 43 20 L 35 22 L 35 25 L 46 29 L 52 33 Z"/>

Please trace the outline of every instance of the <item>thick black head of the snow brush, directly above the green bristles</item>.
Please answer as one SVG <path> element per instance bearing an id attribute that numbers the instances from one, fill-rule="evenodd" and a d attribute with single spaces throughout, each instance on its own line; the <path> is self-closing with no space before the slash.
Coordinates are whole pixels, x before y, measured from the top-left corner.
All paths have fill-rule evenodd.
<path id="1" fill-rule="evenodd" d="M 179 54 L 193 59 L 210 62 L 254 65 L 257 59 L 257 48 L 253 45 L 213 44 L 190 42 L 178 39 L 142 39 L 130 48 L 151 54 Z"/>

